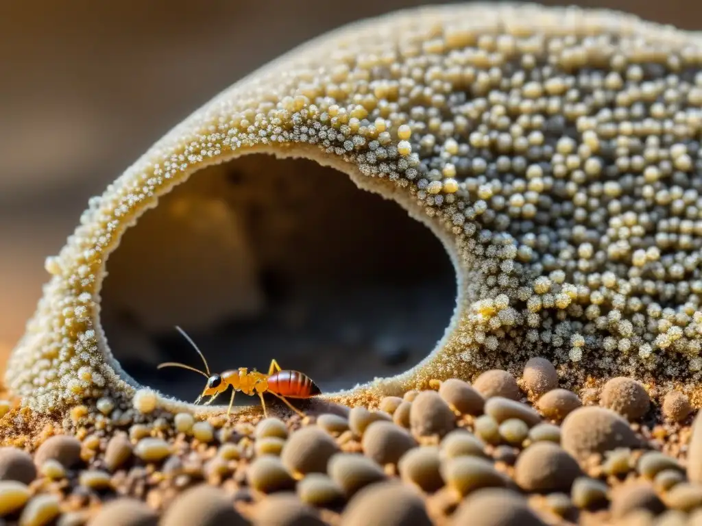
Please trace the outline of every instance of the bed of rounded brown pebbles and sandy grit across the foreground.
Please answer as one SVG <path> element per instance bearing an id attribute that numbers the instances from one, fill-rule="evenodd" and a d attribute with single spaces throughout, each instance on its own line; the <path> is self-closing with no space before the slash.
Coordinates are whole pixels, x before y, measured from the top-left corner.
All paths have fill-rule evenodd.
<path id="1" fill-rule="evenodd" d="M 548 360 L 537 363 L 541 376 L 555 374 Z M 519 381 L 491 370 L 473 384 L 448 379 L 436 391 L 383 398 L 376 409 L 329 405 L 304 418 L 166 413 L 118 424 L 74 411 L 75 436 L 46 433 L 31 454 L 0 447 L 0 520 L 657 526 L 702 518 L 699 417 L 665 405 L 661 414 L 645 389 L 617 379 L 593 405 L 554 380 L 536 382 L 543 393 L 534 394 L 533 367 Z M 687 397 L 671 392 L 674 406 L 684 405 Z M 647 412 L 632 416 L 644 403 Z"/>

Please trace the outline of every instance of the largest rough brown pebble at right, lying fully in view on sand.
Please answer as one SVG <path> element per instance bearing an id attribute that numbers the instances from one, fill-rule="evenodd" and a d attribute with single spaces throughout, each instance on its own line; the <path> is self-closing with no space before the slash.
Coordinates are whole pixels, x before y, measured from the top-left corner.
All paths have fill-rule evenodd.
<path id="1" fill-rule="evenodd" d="M 561 426 L 561 445 L 579 460 L 586 460 L 592 453 L 604 454 L 617 447 L 638 444 L 628 422 L 604 407 L 580 407 L 571 412 Z"/>

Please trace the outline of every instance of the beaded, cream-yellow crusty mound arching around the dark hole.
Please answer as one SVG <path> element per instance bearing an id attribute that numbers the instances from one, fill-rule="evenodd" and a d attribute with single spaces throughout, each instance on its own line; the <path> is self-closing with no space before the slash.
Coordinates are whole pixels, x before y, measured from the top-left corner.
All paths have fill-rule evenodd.
<path id="1" fill-rule="evenodd" d="M 701 63 L 698 34 L 531 5 L 406 11 L 312 41 L 220 93 L 91 199 L 47 259 L 6 382 L 41 412 L 131 403 L 139 386 L 100 327 L 107 257 L 176 184 L 266 152 L 395 199 L 458 272 L 437 348 L 344 400 L 537 355 L 566 386 L 630 375 L 690 390 L 702 369 Z"/>

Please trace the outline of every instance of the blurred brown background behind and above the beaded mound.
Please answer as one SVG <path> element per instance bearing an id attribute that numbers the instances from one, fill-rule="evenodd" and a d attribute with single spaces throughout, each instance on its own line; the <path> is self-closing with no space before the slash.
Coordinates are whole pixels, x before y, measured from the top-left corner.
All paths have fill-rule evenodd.
<path id="1" fill-rule="evenodd" d="M 0 349 L 93 194 L 192 110 L 298 43 L 419 0 L 0 4 Z M 444 2 L 440 2 L 444 3 Z M 556 2 L 548 2 L 557 4 Z M 702 29 L 689 0 L 581 0 Z"/>

